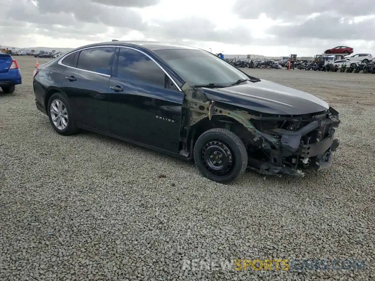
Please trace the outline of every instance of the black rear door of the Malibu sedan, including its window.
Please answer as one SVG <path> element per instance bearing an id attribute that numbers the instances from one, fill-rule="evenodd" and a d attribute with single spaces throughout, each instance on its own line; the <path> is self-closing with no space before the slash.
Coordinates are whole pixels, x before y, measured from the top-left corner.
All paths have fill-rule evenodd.
<path id="1" fill-rule="evenodd" d="M 71 65 L 63 72 L 63 89 L 72 102 L 77 121 L 104 132 L 109 131 L 108 101 L 105 97 L 114 51 L 115 47 L 100 46 L 73 53 L 71 55 L 78 58 L 77 64 L 72 57 Z"/>

